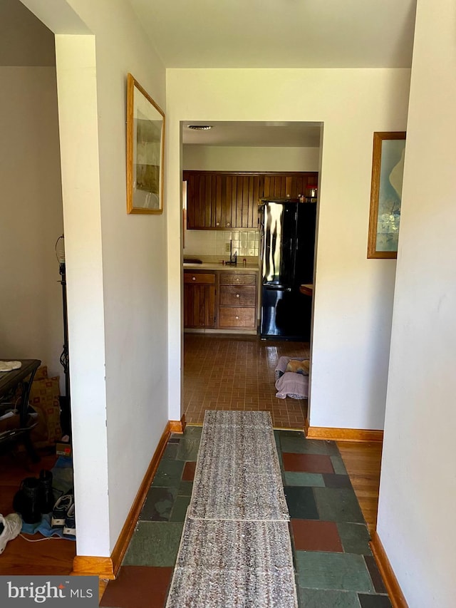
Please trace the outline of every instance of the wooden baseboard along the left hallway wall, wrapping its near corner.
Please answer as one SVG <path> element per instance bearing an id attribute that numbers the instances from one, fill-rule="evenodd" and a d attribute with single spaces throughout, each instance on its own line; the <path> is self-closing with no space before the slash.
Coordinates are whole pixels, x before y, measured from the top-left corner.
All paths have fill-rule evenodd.
<path id="1" fill-rule="evenodd" d="M 172 422 L 168 421 L 163 431 L 160 441 L 158 442 L 157 449 L 150 460 L 150 465 L 147 467 L 144 478 L 136 494 L 133 505 L 128 513 L 128 517 L 125 520 L 125 524 L 120 532 L 117 542 L 115 543 L 114 550 L 110 557 L 93 557 L 90 555 L 76 555 L 73 560 L 73 572 L 71 574 L 75 576 L 83 575 L 96 575 L 100 579 L 113 580 L 120 570 L 125 552 L 128 549 L 128 544 L 135 530 L 135 525 L 140 515 L 142 505 L 145 502 L 147 492 L 154 478 L 155 472 L 162 458 L 162 454 L 165 451 L 167 440 L 170 438 L 171 432 L 183 433 L 185 428 L 185 418 L 183 421 L 177 421 L 182 431 L 171 431 Z M 183 427 L 183 428 L 182 428 Z"/>

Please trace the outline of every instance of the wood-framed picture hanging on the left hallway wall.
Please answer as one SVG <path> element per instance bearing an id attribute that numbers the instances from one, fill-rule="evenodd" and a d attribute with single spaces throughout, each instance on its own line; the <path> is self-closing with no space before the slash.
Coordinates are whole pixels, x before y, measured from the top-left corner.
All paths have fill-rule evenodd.
<path id="1" fill-rule="evenodd" d="M 165 113 L 127 76 L 127 212 L 163 212 Z"/>

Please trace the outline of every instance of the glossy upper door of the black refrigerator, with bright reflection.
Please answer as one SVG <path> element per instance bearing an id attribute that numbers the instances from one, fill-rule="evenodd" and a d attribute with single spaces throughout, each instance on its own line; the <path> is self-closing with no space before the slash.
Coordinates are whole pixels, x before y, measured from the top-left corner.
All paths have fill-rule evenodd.
<path id="1" fill-rule="evenodd" d="M 295 282 L 297 204 L 267 202 L 260 210 L 262 282 L 289 287 Z"/>

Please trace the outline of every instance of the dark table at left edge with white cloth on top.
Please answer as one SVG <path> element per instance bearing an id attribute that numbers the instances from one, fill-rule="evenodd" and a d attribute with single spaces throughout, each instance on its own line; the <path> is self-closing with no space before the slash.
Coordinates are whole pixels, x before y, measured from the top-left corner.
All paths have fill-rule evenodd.
<path id="1" fill-rule="evenodd" d="M 0 361 L 11 360 L 11 357 L 0 357 Z M 16 395 L 16 389 L 21 387 L 19 404 L 16 406 L 16 409 L 19 411 L 19 426 L 0 433 L 0 450 L 11 450 L 16 443 L 22 441 L 28 455 L 36 463 L 40 458 L 33 448 L 30 439 L 30 431 L 34 425 L 31 425 L 28 420 L 28 395 L 30 394 L 33 376 L 35 376 L 36 370 L 41 365 L 41 361 L 38 359 L 15 359 L 15 361 L 21 362 L 22 365 L 19 369 L 0 372 L 0 406 L 2 403 L 4 405 L 8 403 Z"/>

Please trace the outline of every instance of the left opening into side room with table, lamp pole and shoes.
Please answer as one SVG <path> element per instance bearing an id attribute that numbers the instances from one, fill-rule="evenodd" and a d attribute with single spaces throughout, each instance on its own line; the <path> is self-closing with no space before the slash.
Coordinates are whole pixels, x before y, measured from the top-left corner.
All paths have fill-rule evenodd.
<path id="1" fill-rule="evenodd" d="M 53 505 L 73 485 L 70 468 L 56 467 L 56 442 L 69 431 L 68 410 L 64 420 L 60 411 L 68 391 L 61 364 L 66 342 L 63 239 L 56 244 L 63 234 L 56 50 L 53 32 L 21 1 L 1 3 L 0 22 L 9 41 L 0 53 L 0 71 L 9 83 L 1 96 L 2 356 L 19 360 L 23 373 L 30 361 L 36 366 L 34 376 L 27 373 L 19 384 L 6 389 L 4 384 L 1 391 L 0 512 L 19 512 L 23 531 L 32 532 L 50 527 Z M 19 438 L 28 438 L 24 445 L 30 440 L 33 448 L 24 450 Z M 36 461 L 36 453 L 41 460 Z M 32 478 L 23 485 L 29 500 L 19 493 L 26 478 Z M 37 485 L 44 488 L 46 500 L 36 500 Z M 76 542 L 28 542 L 38 539 L 45 540 L 40 532 L 11 539 L 2 555 L 2 574 L 69 574 Z"/>

